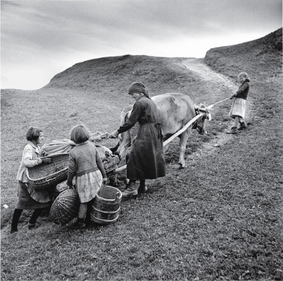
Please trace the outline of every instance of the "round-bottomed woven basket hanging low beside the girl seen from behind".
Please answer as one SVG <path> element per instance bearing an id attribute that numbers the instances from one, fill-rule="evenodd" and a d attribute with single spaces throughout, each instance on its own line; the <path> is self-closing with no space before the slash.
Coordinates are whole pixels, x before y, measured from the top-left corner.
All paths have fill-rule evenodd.
<path id="1" fill-rule="evenodd" d="M 54 200 L 50 217 L 57 225 L 66 225 L 77 216 L 79 197 L 75 189 L 67 189 L 61 192 Z"/>

